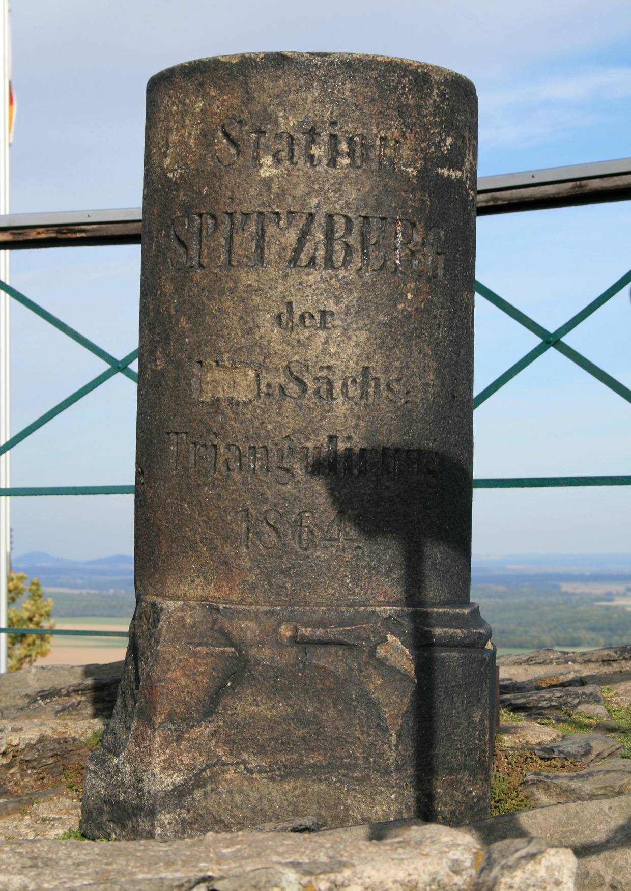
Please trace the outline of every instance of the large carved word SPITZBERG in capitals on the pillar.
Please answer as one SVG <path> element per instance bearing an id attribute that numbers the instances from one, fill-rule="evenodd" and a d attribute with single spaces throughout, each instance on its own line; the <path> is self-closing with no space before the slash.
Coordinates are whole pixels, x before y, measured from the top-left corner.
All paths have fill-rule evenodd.
<path id="1" fill-rule="evenodd" d="M 206 210 L 174 217 L 169 262 L 204 269 L 320 269 L 439 276 L 443 233 L 406 217 L 307 210 Z"/>

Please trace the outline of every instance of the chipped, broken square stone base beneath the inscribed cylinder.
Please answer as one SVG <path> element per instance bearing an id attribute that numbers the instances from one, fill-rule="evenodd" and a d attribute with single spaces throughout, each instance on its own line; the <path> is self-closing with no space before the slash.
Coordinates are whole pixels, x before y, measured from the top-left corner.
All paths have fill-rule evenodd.
<path id="1" fill-rule="evenodd" d="M 475 604 L 141 598 L 114 715 L 86 766 L 82 830 L 175 838 L 305 815 L 327 827 L 480 820 L 489 634 Z"/>

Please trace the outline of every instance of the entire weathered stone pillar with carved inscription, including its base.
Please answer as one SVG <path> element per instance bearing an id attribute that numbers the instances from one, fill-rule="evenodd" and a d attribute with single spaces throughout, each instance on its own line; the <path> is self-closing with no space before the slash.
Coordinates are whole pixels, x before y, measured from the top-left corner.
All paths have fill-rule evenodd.
<path id="1" fill-rule="evenodd" d="M 137 607 L 87 834 L 488 813 L 476 123 L 473 85 L 416 61 L 151 78 Z"/>

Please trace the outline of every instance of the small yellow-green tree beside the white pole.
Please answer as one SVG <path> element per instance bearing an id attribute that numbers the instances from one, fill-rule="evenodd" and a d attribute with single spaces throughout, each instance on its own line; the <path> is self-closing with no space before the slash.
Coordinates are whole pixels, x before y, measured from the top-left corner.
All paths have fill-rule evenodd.
<path id="1" fill-rule="evenodd" d="M 9 574 L 9 627 L 54 628 L 53 601 L 50 597 L 44 600 L 42 585 L 36 578 L 30 580 L 28 588 L 26 583 L 26 573 Z M 22 598 L 19 606 L 13 606 Z M 47 656 L 52 640 L 51 634 L 9 634 L 9 671 L 32 666 L 37 657 Z"/>

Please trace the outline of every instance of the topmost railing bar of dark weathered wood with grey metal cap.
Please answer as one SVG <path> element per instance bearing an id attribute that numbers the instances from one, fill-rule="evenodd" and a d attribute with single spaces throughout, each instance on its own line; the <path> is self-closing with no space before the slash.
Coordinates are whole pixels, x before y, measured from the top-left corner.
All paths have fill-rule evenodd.
<path id="1" fill-rule="evenodd" d="M 631 158 L 481 176 L 478 216 L 631 199 Z M 4 249 L 140 244 L 142 208 L 0 216 Z"/>

